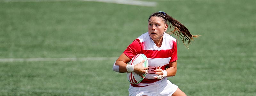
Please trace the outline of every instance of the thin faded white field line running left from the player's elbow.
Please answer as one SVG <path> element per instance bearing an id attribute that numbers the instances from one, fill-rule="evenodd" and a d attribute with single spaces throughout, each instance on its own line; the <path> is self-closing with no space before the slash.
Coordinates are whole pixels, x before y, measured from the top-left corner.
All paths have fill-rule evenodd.
<path id="1" fill-rule="evenodd" d="M 84 57 L 84 58 L 1 58 L 0 62 L 36 62 L 36 61 L 103 61 L 116 60 L 118 57 Z"/>

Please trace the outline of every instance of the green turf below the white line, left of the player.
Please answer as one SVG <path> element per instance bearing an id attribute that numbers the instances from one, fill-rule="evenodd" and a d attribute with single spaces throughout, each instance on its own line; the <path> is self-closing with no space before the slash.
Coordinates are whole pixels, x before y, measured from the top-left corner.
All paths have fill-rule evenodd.
<path id="1" fill-rule="evenodd" d="M 1 96 L 127 94 L 127 90 L 119 90 L 128 88 L 129 83 L 126 78 L 122 74 L 109 71 L 112 70 L 111 66 L 100 67 L 106 65 L 102 62 L 113 63 L 113 61 L 0 63 L 0 93 Z"/>

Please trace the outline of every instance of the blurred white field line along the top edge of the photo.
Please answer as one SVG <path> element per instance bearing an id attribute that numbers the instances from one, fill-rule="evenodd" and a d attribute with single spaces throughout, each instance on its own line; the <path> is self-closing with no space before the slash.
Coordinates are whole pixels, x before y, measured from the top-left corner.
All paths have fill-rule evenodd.
<path id="1" fill-rule="evenodd" d="M 60 1 L 72 1 L 72 0 L 0 0 L 0 2 L 60 2 Z M 157 5 L 157 3 L 154 1 L 140 1 L 140 0 L 74 0 L 74 1 L 94 1 L 94 2 L 106 2 L 106 3 L 149 6 L 149 7 L 154 7 Z"/>

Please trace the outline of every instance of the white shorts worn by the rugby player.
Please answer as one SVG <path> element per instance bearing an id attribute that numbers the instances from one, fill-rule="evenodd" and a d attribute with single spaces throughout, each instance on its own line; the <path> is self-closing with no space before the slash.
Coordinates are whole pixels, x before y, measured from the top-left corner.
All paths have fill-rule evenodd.
<path id="1" fill-rule="evenodd" d="M 178 86 L 172 84 L 167 78 L 164 79 L 159 83 L 145 87 L 133 87 L 130 85 L 129 96 L 172 96 Z"/>

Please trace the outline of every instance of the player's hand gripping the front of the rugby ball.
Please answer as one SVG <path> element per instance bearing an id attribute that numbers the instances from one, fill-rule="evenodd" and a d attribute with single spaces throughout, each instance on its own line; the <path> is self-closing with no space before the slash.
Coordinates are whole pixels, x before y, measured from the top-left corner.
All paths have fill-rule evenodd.
<path id="1" fill-rule="evenodd" d="M 140 63 L 134 65 L 134 71 L 135 73 L 139 74 L 142 78 L 145 78 L 143 74 L 148 72 L 148 67 L 144 67 L 142 64 L 145 62 L 145 60 L 141 61 Z"/>

